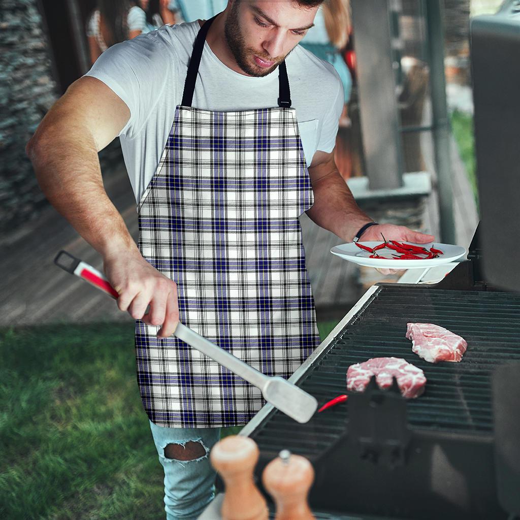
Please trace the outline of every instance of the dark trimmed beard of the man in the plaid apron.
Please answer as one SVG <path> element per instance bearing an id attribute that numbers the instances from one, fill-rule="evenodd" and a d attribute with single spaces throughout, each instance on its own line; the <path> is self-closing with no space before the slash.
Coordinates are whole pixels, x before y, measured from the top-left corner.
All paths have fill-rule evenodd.
<path id="1" fill-rule="evenodd" d="M 228 47 L 233 53 L 238 66 L 246 74 L 257 77 L 266 76 L 278 67 L 279 63 L 284 60 L 285 56 L 283 58 L 277 58 L 276 60 L 273 60 L 270 56 L 266 56 L 265 53 L 258 53 L 256 49 L 247 48 L 245 46 L 245 38 L 242 34 L 242 31 L 240 30 L 237 11 L 238 2 L 235 2 L 231 6 L 231 10 L 229 11 L 226 24 L 224 26 L 224 34 L 226 36 Z M 252 58 L 253 54 L 258 56 L 260 59 L 265 61 L 275 61 L 275 63 L 267 69 L 259 67 L 255 63 L 251 63 L 251 61 L 248 60 L 248 58 Z"/>

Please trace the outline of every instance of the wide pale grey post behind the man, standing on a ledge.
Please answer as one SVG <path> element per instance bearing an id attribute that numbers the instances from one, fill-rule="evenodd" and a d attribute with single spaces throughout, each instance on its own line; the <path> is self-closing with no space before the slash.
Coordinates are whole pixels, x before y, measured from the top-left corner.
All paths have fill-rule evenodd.
<path id="1" fill-rule="evenodd" d="M 370 189 L 402 186 L 402 153 L 387 0 L 353 0 L 361 135 Z"/>

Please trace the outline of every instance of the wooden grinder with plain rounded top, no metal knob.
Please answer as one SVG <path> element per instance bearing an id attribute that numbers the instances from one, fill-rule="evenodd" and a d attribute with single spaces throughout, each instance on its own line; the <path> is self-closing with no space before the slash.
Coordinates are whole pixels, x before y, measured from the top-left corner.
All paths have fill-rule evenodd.
<path id="1" fill-rule="evenodd" d="M 222 520 L 267 520 L 267 503 L 253 480 L 259 453 L 253 439 L 239 435 L 230 435 L 213 446 L 210 460 L 226 486 Z"/>

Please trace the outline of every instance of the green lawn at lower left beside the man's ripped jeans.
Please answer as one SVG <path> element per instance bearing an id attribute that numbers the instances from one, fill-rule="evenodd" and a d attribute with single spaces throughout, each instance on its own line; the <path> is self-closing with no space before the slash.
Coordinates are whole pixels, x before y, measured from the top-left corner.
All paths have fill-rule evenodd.
<path id="1" fill-rule="evenodd" d="M 0 518 L 164 517 L 131 325 L 3 330 L 0 355 Z"/>

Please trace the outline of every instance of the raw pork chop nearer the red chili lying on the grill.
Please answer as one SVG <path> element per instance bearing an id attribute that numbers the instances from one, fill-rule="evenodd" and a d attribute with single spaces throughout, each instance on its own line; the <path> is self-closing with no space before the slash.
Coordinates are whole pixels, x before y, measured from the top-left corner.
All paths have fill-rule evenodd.
<path id="1" fill-rule="evenodd" d="M 424 392 L 424 372 L 401 358 L 372 358 L 350 365 L 347 370 L 347 390 L 363 392 L 372 375 L 380 388 L 392 386 L 395 376 L 403 397 L 419 397 Z"/>

